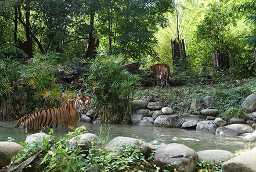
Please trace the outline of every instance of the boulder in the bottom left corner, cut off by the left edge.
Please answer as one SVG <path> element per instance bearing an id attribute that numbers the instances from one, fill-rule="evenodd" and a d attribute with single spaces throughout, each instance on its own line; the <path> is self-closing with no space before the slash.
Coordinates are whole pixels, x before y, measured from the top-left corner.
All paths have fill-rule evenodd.
<path id="1" fill-rule="evenodd" d="M 10 164 L 13 156 L 24 148 L 16 142 L 0 141 L 0 167 L 5 167 Z"/>

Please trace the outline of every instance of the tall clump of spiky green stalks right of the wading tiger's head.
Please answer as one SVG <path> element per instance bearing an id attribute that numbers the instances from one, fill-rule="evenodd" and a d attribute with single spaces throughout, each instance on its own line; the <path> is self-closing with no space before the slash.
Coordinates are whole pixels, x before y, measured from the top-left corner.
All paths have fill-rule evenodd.
<path id="1" fill-rule="evenodd" d="M 121 68 L 121 64 L 118 57 L 97 57 L 90 62 L 89 77 L 82 79 L 86 89 L 95 95 L 100 116 L 107 123 L 131 120 L 131 101 L 138 76 Z"/>

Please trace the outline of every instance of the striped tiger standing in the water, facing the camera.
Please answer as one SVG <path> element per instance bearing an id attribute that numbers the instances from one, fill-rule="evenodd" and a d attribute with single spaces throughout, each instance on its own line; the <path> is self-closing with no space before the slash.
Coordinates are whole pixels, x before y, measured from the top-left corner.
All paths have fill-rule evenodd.
<path id="1" fill-rule="evenodd" d="M 92 101 L 88 96 L 78 96 L 76 99 L 69 100 L 63 107 L 45 109 L 23 116 L 17 121 L 15 128 L 21 125 L 21 128 L 27 128 L 27 130 L 58 126 L 75 129 L 81 116 L 86 114 L 91 105 Z"/>

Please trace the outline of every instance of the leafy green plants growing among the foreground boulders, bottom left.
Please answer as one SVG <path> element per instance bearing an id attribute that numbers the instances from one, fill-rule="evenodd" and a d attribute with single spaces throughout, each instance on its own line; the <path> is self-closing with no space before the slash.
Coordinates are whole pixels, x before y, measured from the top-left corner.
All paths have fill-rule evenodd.
<path id="1" fill-rule="evenodd" d="M 134 145 L 122 145 L 122 151 L 111 151 L 105 147 L 98 148 L 93 144 L 88 154 L 81 150 L 78 141 L 85 133 L 85 127 L 78 127 L 63 138 L 51 137 L 37 138 L 33 144 L 23 145 L 23 151 L 12 158 L 12 163 L 21 163 L 40 151 L 45 152 L 41 163 L 37 166 L 27 166 L 24 171 L 158 171 L 153 164 L 154 150 L 149 158 L 136 149 Z M 53 130 L 49 134 L 53 134 Z M 69 140 L 77 138 L 77 144 L 70 146 Z"/>

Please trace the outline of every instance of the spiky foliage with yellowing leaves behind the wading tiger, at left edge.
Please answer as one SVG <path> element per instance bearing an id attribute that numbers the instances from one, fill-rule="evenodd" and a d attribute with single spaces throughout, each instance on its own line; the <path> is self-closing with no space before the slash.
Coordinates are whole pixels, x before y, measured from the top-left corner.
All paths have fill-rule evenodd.
<path id="1" fill-rule="evenodd" d="M 5 54 L 13 54 L 13 49 Z M 34 63 L 21 64 L 12 56 L 0 58 L 0 115 L 4 120 L 18 118 L 34 109 L 57 107 L 74 98 L 74 91 L 56 82 L 53 71 L 61 60 L 57 53 L 38 55 L 33 60 Z"/>

